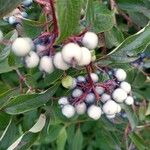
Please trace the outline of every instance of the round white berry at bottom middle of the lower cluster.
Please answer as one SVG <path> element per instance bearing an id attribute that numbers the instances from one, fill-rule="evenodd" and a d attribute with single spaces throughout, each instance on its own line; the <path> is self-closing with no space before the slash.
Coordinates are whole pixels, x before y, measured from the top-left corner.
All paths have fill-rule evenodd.
<path id="1" fill-rule="evenodd" d="M 90 118 L 98 120 L 101 117 L 102 110 L 96 105 L 91 105 L 87 110 L 87 114 Z"/>

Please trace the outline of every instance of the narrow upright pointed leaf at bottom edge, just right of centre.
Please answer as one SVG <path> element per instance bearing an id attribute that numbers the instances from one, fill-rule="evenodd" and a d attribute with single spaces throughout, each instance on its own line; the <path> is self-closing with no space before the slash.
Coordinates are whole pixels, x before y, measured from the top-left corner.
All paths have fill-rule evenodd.
<path id="1" fill-rule="evenodd" d="M 72 142 L 72 150 L 82 150 L 83 135 L 80 128 L 77 129 Z"/>

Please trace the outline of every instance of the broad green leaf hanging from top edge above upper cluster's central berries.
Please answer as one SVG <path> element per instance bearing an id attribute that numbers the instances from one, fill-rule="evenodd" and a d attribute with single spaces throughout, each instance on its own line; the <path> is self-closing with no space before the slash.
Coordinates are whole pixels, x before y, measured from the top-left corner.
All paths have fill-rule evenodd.
<path id="1" fill-rule="evenodd" d="M 81 11 L 82 0 L 56 1 L 56 14 L 59 26 L 57 43 L 76 33 Z"/>

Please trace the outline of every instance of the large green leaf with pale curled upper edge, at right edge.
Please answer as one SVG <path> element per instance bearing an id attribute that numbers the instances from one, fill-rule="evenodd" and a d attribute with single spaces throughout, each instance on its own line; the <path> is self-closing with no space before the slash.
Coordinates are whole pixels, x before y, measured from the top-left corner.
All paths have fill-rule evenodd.
<path id="1" fill-rule="evenodd" d="M 150 24 L 134 35 L 126 38 L 109 56 L 116 62 L 131 62 L 137 59 L 137 54 L 143 52 L 150 44 Z"/>

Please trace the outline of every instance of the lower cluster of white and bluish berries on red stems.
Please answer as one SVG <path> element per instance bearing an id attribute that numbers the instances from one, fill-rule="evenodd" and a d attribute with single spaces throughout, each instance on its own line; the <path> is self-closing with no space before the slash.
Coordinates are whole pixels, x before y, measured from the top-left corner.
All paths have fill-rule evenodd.
<path id="1" fill-rule="evenodd" d="M 112 78 L 99 83 L 96 73 L 89 76 L 78 76 L 73 80 L 73 88 L 70 97 L 62 97 L 58 103 L 62 108 L 62 114 L 71 118 L 77 113 L 82 115 L 87 112 L 94 120 L 105 114 L 107 118 L 114 118 L 121 112 L 121 103 L 132 105 L 134 99 L 131 96 L 131 85 L 124 81 L 126 72 L 123 69 L 111 70 Z"/>

